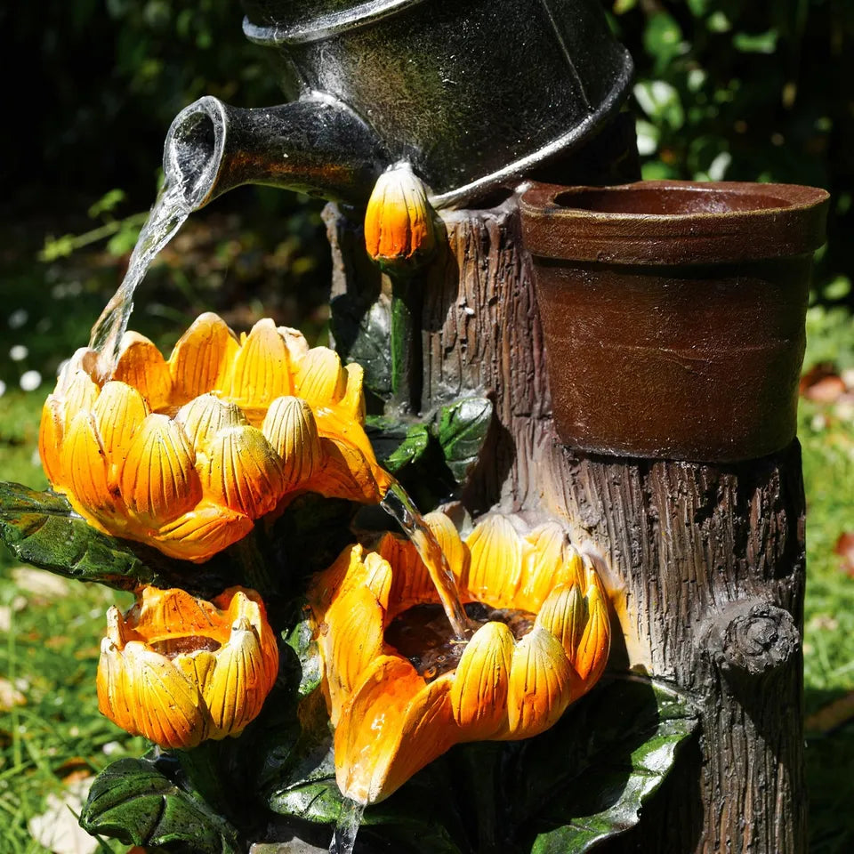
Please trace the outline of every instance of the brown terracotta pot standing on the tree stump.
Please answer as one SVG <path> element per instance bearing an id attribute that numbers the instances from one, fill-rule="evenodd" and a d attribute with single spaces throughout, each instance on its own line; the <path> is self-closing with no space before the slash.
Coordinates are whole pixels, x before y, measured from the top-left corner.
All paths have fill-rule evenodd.
<path id="1" fill-rule="evenodd" d="M 522 232 L 561 441 L 714 462 L 786 447 L 827 199 L 791 184 L 532 185 Z"/>

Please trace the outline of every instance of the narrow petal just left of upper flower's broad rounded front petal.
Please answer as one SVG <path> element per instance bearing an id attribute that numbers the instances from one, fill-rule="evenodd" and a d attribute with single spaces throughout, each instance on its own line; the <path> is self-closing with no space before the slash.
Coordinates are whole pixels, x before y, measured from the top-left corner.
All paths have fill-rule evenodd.
<path id="1" fill-rule="evenodd" d="M 117 512 L 117 496 L 109 489 L 109 466 L 91 412 L 78 412 L 62 443 L 62 481 L 77 503 L 96 517 Z"/>

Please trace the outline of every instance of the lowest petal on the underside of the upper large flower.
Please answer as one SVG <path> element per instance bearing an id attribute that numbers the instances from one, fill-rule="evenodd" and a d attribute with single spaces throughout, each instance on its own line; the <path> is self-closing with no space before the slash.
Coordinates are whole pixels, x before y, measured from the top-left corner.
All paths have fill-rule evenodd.
<path id="1" fill-rule="evenodd" d="M 243 539 L 252 528 L 252 520 L 243 513 L 202 501 L 160 528 L 152 539 L 165 555 L 200 563 Z"/>

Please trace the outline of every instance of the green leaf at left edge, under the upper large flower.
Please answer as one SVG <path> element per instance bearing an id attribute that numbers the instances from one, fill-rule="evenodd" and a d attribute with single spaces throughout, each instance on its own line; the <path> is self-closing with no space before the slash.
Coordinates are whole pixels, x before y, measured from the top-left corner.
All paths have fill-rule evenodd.
<path id="1" fill-rule="evenodd" d="M 151 584 L 153 568 L 125 540 L 101 534 L 62 495 L 0 483 L 0 537 L 26 563 L 120 590 Z"/>

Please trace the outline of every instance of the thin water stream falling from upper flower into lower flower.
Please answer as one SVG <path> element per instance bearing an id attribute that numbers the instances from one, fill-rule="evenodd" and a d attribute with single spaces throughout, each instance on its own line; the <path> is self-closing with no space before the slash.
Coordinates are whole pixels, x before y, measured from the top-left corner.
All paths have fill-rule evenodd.
<path id="1" fill-rule="evenodd" d="M 471 626 L 463 609 L 463 602 L 460 600 L 460 592 L 456 588 L 454 573 L 447 564 L 447 558 L 442 552 L 439 541 L 424 522 L 421 513 L 407 495 L 406 489 L 395 481 L 383 496 L 380 506 L 398 521 L 399 526 L 415 546 L 439 592 L 442 608 L 445 609 L 456 638 L 461 641 L 466 640 L 471 636 Z"/>

